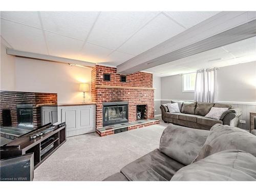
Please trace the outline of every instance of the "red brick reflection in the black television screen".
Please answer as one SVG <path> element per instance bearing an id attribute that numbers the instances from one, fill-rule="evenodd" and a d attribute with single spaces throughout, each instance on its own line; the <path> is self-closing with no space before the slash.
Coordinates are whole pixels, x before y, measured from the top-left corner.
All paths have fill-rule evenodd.
<path id="1" fill-rule="evenodd" d="M 3 126 L 3 110 L 11 111 L 12 126 L 17 126 L 17 104 L 32 104 L 33 105 L 33 125 L 34 129 L 41 125 L 40 106 L 43 104 L 57 104 L 57 94 L 52 93 L 31 93 L 31 92 L 1 92 L 0 106 L 0 122 Z"/>

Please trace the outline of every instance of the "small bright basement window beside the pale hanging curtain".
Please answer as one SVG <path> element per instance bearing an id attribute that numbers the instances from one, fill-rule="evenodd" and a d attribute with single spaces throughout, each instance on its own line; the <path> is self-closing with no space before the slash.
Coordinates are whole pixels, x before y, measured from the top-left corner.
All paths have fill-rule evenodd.
<path id="1" fill-rule="evenodd" d="M 194 92 L 196 87 L 197 73 L 187 73 L 182 75 L 182 91 Z"/>

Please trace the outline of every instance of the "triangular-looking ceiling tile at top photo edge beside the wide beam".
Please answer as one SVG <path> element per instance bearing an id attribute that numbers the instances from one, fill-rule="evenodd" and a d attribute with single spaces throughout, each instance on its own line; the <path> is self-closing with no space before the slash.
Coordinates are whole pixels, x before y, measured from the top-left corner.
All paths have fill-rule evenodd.
<path id="1" fill-rule="evenodd" d="M 178 23 L 190 28 L 216 15 L 219 11 L 167 11 L 166 13 Z"/>

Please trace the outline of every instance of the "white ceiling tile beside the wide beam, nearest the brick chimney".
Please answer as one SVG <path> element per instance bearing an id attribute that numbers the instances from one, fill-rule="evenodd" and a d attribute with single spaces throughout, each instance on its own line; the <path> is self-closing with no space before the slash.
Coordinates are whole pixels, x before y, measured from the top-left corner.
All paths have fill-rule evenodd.
<path id="1" fill-rule="evenodd" d="M 158 15 L 118 50 L 138 55 L 185 29 L 163 14 Z"/>

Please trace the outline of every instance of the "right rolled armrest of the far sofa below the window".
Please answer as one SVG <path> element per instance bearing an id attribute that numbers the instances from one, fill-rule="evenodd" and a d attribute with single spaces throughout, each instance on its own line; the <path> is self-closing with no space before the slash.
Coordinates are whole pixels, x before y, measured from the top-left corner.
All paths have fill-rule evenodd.
<path id="1" fill-rule="evenodd" d="M 239 117 L 242 115 L 242 110 L 239 108 L 230 109 L 225 111 L 221 115 L 221 120 L 223 124 L 230 125 L 230 126 L 238 126 Z"/>

